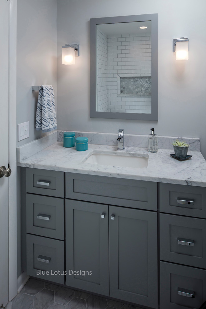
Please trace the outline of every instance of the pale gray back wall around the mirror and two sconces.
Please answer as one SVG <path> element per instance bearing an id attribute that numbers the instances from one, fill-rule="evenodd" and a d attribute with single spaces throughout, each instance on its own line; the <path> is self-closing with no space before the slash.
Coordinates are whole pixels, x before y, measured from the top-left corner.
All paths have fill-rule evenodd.
<path id="1" fill-rule="evenodd" d="M 206 157 L 205 0 L 57 0 L 57 128 L 201 138 Z M 107 120 L 89 116 L 89 20 L 159 14 L 159 121 Z M 173 38 L 189 37 L 189 60 L 176 61 Z M 74 66 L 61 63 L 61 46 L 77 43 Z"/>

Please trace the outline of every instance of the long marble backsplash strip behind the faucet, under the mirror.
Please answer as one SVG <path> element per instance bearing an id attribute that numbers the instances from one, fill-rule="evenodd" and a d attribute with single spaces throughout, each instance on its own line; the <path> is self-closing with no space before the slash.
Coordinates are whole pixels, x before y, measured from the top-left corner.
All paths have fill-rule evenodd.
<path id="1" fill-rule="evenodd" d="M 58 142 L 63 142 L 63 134 L 66 131 L 58 132 Z M 76 137 L 86 136 L 88 138 L 89 144 L 97 145 L 118 145 L 117 143 L 117 133 L 94 133 L 94 132 L 75 132 Z M 171 149 L 171 153 L 174 152 L 173 145 L 170 144 L 174 140 L 179 139 L 180 141 L 185 140 L 188 143 L 189 151 L 200 151 L 200 139 L 199 138 L 189 138 L 189 137 L 179 137 L 179 136 L 158 136 L 158 148 L 159 149 Z M 127 147 L 148 147 L 148 135 L 134 135 L 125 134 L 125 146 Z"/>

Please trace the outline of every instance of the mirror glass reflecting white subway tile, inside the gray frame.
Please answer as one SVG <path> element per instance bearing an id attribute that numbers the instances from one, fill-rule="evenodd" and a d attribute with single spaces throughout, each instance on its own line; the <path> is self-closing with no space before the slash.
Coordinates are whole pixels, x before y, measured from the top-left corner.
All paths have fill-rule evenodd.
<path id="1" fill-rule="evenodd" d="M 151 21 L 96 25 L 96 111 L 151 114 Z"/>

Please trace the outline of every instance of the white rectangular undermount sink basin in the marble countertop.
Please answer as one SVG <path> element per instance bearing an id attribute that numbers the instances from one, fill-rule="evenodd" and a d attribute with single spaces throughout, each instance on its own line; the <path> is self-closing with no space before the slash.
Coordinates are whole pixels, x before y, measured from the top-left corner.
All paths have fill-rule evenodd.
<path id="1" fill-rule="evenodd" d="M 148 158 L 147 154 L 140 153 L 95 152 L 90 154 L 83 163 L 144 169 L 148 165 Z"/>

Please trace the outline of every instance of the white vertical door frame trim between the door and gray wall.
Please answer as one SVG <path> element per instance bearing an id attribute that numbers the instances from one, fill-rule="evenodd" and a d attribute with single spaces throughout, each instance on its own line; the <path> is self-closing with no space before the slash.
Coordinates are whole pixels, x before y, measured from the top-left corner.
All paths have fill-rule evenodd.
<path id="1" fill-rule="evenodd" d="M 17 133 L 16 133 L 16 55 L 17 0 L 10 2 L 9 16 L 9 163 L 8 178 L 8 301 L 17 295 Z M 20 245 L 20 244 L 19 244 Z"/>

